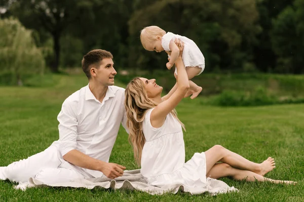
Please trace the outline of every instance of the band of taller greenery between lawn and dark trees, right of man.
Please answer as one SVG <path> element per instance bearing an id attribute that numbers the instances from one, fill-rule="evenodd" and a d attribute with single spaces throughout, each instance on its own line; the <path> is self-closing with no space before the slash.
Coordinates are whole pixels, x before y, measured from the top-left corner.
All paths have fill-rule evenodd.
<path id="1" fill-rule="evenodd" d="M 176 82 L 170 71 L 134 71 L 128 75 L 121 75 L 119 71 L 116 78 L 127 84 L 136 76 L 155 78 L 164 93 L 169 92 Z M 263 106 L 304 103 L 303 79 L 300 75 L 204 73 L 192 80 L 203 87 L 199 95 L 204 98 L 203 105 Z"/>

